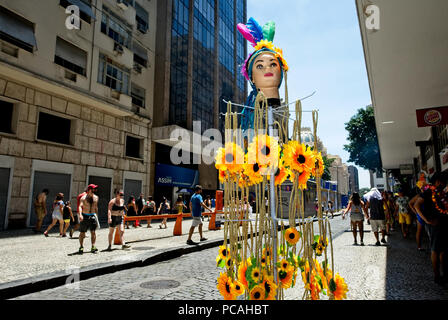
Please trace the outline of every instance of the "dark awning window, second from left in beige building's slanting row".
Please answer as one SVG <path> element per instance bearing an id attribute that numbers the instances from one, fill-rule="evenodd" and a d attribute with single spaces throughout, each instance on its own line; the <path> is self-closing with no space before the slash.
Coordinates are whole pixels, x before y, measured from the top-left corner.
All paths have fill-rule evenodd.
<path id="1" fill-rule="evenodd" d="M 87 52 L 57 37 L 54 62 L 82 76 L 86 75 Z"/>

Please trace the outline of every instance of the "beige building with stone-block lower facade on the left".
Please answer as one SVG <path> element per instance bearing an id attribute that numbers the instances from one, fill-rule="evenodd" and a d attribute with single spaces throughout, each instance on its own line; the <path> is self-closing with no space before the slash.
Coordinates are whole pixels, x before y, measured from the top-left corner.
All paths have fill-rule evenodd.
<path id="1" fill-rule="evenodd" d="M 43 188 L 51 212 L 57 193 L 76 204 L 99 185 L 106 223 L 114 189 L 148 192 L 155 12 L 155 0 L 0 0 L 0 230 L 33 226 Z"/>

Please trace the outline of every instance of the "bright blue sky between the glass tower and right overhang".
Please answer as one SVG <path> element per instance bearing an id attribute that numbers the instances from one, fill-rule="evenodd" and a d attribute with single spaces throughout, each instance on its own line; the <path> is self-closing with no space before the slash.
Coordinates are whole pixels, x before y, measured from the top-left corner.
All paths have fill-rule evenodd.
<path id="1" fill-rule="evenodd" d="M 329 154 L 348 163 L 345 123 L 371 104 L 355 1 L 247 0 L 247 17 L 276 23 L 274 45 L 289 65 L 289 101 L 317 91 L 303 110 L 319 110 L 318 136 Z M 312 127 L 311 113 L 303 114 L 303 126 Z M 360 188 L 370 187 L 368 171 L 358 172 Z"/>

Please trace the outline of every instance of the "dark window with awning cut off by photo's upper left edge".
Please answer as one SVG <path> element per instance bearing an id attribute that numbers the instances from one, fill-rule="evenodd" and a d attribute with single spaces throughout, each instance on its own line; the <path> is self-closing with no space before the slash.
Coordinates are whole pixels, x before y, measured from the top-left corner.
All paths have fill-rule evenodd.
<path id="1" fill-rule="evenodd" d="M 37 46 L 34 24 L 3 7 L 0 7 L 0 39 L 28 52 Z"/>

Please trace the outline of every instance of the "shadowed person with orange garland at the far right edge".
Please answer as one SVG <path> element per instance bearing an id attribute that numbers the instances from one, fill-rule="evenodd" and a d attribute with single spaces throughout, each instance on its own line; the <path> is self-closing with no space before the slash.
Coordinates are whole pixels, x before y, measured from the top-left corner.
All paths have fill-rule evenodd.
<path id="1" fill-rule="evenodd" d="M 448 280 L 446 252 L 448 251 L 448 210 L 444 203 L 448 196 L 444 192 L 445 175 L 436 172 L 431 177 L 431 186 L 427 188 L 414 204 L 414 209 L 427 224 L 430 245 L 431 264 L 434 282 L 444 284 Z M 442 277 L 443 274 L 443 277 Z"/>

